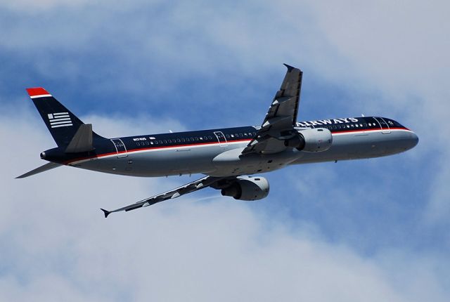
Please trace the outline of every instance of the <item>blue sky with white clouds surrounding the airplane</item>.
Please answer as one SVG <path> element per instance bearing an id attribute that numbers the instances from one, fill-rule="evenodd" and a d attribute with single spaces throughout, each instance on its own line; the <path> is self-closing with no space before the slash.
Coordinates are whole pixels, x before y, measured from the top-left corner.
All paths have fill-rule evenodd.
<path id="1" fill-rule="evenodd" d="M 1 301 L 449 301 L 447 1 L 0 1 Z M 288 63 L 299 120 L 390 117 L 409 152 L 264 174 L 103 218 L 200 176 L 61 167 L 25 88 L 102 136 L 259 124 Z"/>

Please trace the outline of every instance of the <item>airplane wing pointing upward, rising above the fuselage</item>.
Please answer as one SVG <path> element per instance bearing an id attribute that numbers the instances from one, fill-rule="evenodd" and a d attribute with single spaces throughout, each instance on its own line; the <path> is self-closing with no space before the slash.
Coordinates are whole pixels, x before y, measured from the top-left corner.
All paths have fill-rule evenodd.
<path id="1" fill-rule="evenodd" d="M 276 92 L 261 129 L 245 147 L 243 155 L 281 152 L 286 148 L 283 140 L 292 138 L 295 133 L 294 127 L 297 122 L 303 72 L 298 68 L 285 66 L 288 67 L 288 72 L 286 72 L 283 84 Z"/>

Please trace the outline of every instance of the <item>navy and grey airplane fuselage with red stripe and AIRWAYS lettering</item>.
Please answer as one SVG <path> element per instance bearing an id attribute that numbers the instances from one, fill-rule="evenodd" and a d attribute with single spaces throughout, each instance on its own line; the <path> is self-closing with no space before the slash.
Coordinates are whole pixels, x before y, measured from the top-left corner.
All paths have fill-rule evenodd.
<path id="1" fill-rule="evenodd" d="M 70 154 L 62 148 L 41 153 L 43 159 L 82 169 L 126 176 L 158 177 L 203 173 L 233 176 L 264 173 L 290 164 L 383 157 L 404 152 L 418 143 L 413 131 L 393 119 L 352 117 L 297 122 L 297 127 L 326 128 L 333 135 L 330 149 L 304 152 L 288 147 L 276 154 L 240 153 L 258 126 L 160 133 L 122 138 L 94 138 L 95 150 Z"/>

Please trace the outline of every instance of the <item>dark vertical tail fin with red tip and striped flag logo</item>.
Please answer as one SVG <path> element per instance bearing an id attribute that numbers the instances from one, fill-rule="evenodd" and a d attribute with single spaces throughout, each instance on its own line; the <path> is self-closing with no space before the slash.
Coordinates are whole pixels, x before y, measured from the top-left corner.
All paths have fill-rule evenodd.
<path id="1" fill-rule="evenodd" d="M 34 105 L 41 114 L 42 119 L 49 129 L 51 136 L 58 147 L 68 147 L 75 133 L 84 123 L 70 110 L 53 98 L 44 88 L 27 88 Z M 98 136 L 96 133 L 94 138 Z"/>

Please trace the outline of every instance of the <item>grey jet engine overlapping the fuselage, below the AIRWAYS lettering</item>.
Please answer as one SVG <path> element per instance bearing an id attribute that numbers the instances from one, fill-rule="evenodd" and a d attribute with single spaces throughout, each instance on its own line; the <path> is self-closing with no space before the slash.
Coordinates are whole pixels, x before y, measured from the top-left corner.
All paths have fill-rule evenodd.
<path id="1" fill-rule="evenodd" d="M 333 136 L 326 128 L 303 129 L 293 138 L 284 141 L 286 147 L 295 147 L 299 151 L 322 152 L 330 149 Z"/>

